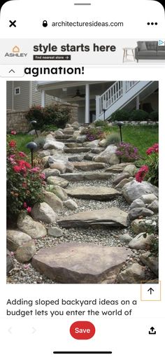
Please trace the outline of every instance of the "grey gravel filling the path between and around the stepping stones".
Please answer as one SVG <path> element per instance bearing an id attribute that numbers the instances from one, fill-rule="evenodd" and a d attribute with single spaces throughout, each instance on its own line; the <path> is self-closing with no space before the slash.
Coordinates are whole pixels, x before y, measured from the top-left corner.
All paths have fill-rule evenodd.
<path id="1" fill-rule="evenodd" d="M 76 155 L 76 154 L 74 154 Z M 64 156 L 71 156 L 71 155 L 64 155 Z M 106 165 L 107 166 L 107 165 Z M 103 172 L 104 170 L 96 170 L 94 172 Z M 80 170 L 75 170 L 75 172 L 82 172 Z M 93 173 L 93 171 L 92 171 Z M 101 181 L 80 181 L 80 182 L 69 182 L 69 188 L 71 187 L 78 187 L 78 186 L 104 186 L 104 187 L 111 187 L 112 181 L 111 180 L 101 180 Z M 59 212 L 58 216 L 69 216 L 71 214 L 76 214 L 81 211 L 87 210 L 94 210 L 94 209 L 106 209 L 110 207 L 118 207 L 123 211 L 129 211 L 129 204 L 124 200 L 122 195 L 117 197 L 115 200 L 110 201 L 96 201 L 96 200 L 82 200 L 73 198 L 73 200 L 78 204 L 78 209 L 71 211 L 69 209 L 64 209 Z M 45 225 L 47 228 L 51 227 L 52 224 Z M 68 230 L 63 228 L 62 229 L 63 235 L 62 237 L 55 238 L 55 237 L 45 237 L 43 239 L 36 239 L 36 248 L 37 251 L 41 248 L 46 248 L 50 246 L 55 246 L 56 244 L 69 242 L 69 241 L 78 241 L 78 242 L 87 242 L 87 243 L 94 243 L 94 244 L 101 244 L 105 246 L 126 246 L 126 243 L 121 243 L 118 239 L 119 235 L 124 233 L 129 233 L 131 237 L 135 237 L 136 235 L 133 234 L 130 227 L 127 229 L 121 228 L 87 228 L 87 229 L 78 229 L 78 228 L 69 228 Z M 140 262 L 139 256 L 145 251 L 135 250 L 132 249 L 133 255 L 131 258 L 125 262 L 122 266 L 122 270 L 126 267 L 131 265 L 134 262 Z M 31 263 L 21 264 L 17 262 L 13 255 L 14 260 L 14 269 L 8 274 L 7 283 L 56 283 L 51 279 L 48 279 L 46 276 L 41 275 L 39 272 L 31 266 Z M 146 280 L 155 279 L 155 275 L 152 274 L 150 269 L 145 267 L 145 276 Z"/>

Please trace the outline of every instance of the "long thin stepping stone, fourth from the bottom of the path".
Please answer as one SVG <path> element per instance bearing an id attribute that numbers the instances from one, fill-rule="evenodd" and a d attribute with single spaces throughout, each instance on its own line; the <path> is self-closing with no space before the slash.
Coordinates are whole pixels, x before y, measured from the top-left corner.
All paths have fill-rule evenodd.
<path id="1" fill-rule="evenodd" d="M 51 176 L 51 177 L 55 177 L 55 176 Z M 111 179 L 112 174 L 110 174 L 109 172 L 88 172 L 88 173 L 72 172 L 71 174 L 70 173 L 62 174 L 60 175 L 60 177 L 68 181 L 84 181 L 84 180 L 91 181 L 91 180 L 108 180 Z M 48 179 L 50 179 L 50 177 L 48 177 Z"/>

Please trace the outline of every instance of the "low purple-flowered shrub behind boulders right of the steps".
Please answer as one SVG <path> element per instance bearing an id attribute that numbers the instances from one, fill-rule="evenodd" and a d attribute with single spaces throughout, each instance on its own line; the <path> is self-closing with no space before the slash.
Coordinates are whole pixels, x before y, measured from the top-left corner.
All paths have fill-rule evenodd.
<path id="1" fill-rule="evenodd" d="M 121 143 L 117 146 L 115 154 L 122 162 L 134 162 L 139 159 L 138 148 L 129 143 Z"/>

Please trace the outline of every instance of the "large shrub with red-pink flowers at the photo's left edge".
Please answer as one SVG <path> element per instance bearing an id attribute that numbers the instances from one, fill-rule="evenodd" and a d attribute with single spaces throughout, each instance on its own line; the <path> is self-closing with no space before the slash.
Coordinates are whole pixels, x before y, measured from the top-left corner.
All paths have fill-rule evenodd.
<path id="1" fill-rule="evenodd" d="M 31 207 L 43 201 L 45 175 L 39 167 L 31 168 L 26 154 L 17 151 L 14 140 L 7 143 L 7 217 L 17 216 L 22 209 L 31 212 Z"/>

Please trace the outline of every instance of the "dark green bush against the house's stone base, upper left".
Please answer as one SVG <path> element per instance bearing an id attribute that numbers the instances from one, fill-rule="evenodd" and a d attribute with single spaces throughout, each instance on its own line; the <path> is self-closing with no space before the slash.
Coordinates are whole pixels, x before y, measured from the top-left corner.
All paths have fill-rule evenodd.
<path id="1" fill-rule="evenodd" d="M 26 118 L 29 122 L 31 120 L 36 120 L 36 129 L 42 130 L 44 125 L 53 125 L 55 127 L 64 128 L 66 123 L 69 122 L 71 118 L 71 109 L 63 107 L 59 104 L 53 104 L 51 106 L 32 106 L 29 109 Z"/>

